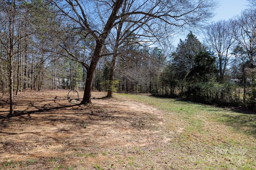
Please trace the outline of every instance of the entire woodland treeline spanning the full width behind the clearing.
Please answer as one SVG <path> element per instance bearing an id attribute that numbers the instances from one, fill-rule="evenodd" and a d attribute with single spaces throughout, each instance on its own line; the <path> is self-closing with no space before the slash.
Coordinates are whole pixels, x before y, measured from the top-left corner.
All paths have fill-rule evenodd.
<path id="1" fill-rule="evenodd" d="M 50 2 L 1 0 L 2 94 L 42 89 L 83 90 L 90 71 L 90 76 L 94 77 L 92 89 L 107 91 L 110 97 L 112 92 L 151 93 L 256 108 L 256 10 L 253 7 L 231 20 L 204 25 L 204 43 L 190 31 L 172 52 L 167 50 L 172 44 L 165 41 L 170 37 L 164 37 L 162 32 L 174 29 L 165 27 L 161 32 L 159 27 L 155 27 L 156 32 L 147 37 L 151 40 L 149 43 L 145 35 L 153 29 L 149 27 L 145 31 L 138 26 L 138 23 L 148 21 L 146 17 L 127 22 L 132 17 L 123 15 L 114 31 L 110 31 L 104 43 L 100 44 L 101 49 L 96 56 L 97 36 L 103 34 L 93 36 L 93 31 L 82 30 L 78 20 L 69 13 L 75 8 Z M 90 7 L 90 3 L 94 2 L 84 6 Z M 100 5 L 106 4 L 102 2 Z M 208 8 L 212 6 L 214 4 Z M 202 14 L 209 11 L 207 8 L 204 10 Z M 103 16 L 101 11 L 99 14 Z M 203 19 L 196 19 L 196 16 L 200 15 L 193 16 L 195 20 L 190 22 Z M 208 14 L 207 17 L 210 16 Z M 186 20 L 174 23 L 182 27 Z M 98 27 L 96 23 L 92 25 Z M 138 29 L 141 30 L 136 32 Z M 166 31 L 166 35 L 171 33 Z M 92 63 L 94 60 L 96 64 Z M 91 65 L 92 68 L 89 67 Z"/>

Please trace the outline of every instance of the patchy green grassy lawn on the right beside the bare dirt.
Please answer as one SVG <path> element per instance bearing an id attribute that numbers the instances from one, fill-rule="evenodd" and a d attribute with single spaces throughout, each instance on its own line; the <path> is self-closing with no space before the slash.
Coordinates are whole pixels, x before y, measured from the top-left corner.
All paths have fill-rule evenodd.
<path id="1" fill-rule="evenodd" d="M 256 169 L 255 114 L 169 98 L 121 95 L 164 112 L 163 128 L 169 140 L 162 156 L 170 169 Z"/>

